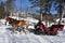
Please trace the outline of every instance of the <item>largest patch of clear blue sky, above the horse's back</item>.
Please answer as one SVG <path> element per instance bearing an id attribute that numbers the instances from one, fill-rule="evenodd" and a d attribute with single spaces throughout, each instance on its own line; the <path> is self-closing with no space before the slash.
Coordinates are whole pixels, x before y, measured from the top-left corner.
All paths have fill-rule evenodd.
<path id="1" fill-rule="evenodd" d="M 28 0 L 23 0 L 22 2 L 21 2 L 21 0 L 16 0 L 15 4 L 16 4 L 18 10 L 21 9 L 21 6 L 22 6 L 22 9 L 24 9 L 26 6 L 30 6 L 31 5 Z"/>

